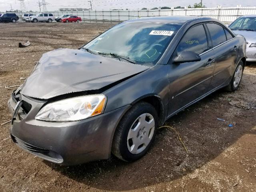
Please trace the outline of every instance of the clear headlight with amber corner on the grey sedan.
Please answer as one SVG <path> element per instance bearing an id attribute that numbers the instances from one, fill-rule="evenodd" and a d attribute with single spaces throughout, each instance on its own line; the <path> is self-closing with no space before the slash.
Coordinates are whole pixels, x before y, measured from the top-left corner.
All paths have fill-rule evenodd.
<path id="1" fill-rule="evenodd" d="M 36 115 L 37 120 L 67 122 L 101 114 L 106 103 L 103 94 L 79 96 L 52 102 Z"/>

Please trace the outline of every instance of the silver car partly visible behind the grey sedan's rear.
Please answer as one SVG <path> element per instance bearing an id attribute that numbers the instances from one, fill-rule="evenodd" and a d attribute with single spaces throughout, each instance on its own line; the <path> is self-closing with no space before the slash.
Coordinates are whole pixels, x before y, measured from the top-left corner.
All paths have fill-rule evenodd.
<path id="1" fill-rule="evenodd" d="M 246 61 L 256 61 L 256 15 L 246 15 L 236 19 L 229 28 L 235 34 L 246 38 Z"/>

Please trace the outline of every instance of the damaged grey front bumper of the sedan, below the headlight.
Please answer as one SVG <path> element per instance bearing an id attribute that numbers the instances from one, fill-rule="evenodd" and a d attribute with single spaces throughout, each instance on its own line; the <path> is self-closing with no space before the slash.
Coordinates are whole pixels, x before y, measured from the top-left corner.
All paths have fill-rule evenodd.
<path id="1" fill-rule="evenodd" d="M 24 95 L 8 100 L 12 114 L 22 101 L 10 126 L 12 140 L 27 152 L 50 162 L 76 165 L 108 159 L 118 122 L 129 106 L 76 122 L 44 122 L 35 116 L 45 104 Z"/>

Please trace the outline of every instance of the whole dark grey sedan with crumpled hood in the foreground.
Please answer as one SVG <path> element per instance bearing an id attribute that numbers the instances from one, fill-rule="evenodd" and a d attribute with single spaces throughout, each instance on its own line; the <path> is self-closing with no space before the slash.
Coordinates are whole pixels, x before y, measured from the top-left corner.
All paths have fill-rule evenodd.
<path id="1" fill-rule="evenodd" d="M 246 41 L 218 20 L 149 17 L 114 26 L 80 49 L 43 54 L 8 101 L 12 140 L 65 165 L 146 154 L 156 130 L 226 87 L 235 91 Z"/>

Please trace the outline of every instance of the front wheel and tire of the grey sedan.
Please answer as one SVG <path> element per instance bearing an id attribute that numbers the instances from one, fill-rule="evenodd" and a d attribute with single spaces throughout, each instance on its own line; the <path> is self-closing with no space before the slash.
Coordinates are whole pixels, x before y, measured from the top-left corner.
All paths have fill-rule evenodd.
<path id="1" fill-rule="evenodd" d="M 158 115 L 147 102 L 135 104 L 120 121 L 112 143 L 117 158 L 132 162 L 144 156 L 156 135 Z"/>

